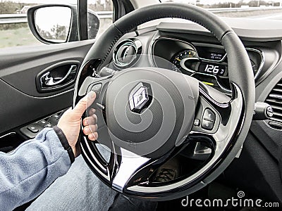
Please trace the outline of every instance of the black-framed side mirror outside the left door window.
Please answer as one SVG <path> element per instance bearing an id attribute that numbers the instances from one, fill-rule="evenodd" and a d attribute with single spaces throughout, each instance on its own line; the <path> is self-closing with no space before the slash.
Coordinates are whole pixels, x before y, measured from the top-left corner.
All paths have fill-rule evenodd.
<path id="1" fill-rule="evenodd" d="M 88 39 L 94 39 L 99 30 L 99 18 L 88 11 Z M 45 44 L 78 41 L 78 8 L 72 5 L 44 4 L 27 11 L 32 34 Z"/>

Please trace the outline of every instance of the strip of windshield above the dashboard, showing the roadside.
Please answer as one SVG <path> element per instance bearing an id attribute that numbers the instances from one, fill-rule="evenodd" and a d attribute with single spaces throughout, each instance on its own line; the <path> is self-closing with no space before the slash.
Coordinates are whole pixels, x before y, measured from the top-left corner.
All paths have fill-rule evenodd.
<path id="1" fill-rule="evenodd" d="M 161 2 L 194 4 L 207 8 L 221 17 L 282 20 L 281 0 L 161 0 Z"/>

